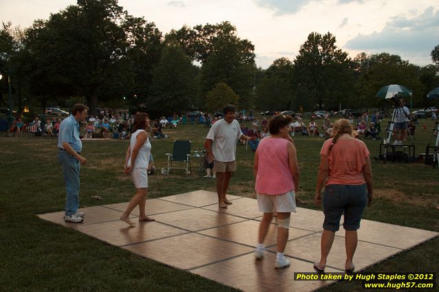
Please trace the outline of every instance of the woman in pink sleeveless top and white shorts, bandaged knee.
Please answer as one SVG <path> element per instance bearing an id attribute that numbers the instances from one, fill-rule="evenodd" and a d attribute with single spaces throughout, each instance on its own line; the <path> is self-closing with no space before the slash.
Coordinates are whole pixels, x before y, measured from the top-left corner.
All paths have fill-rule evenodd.
<path id="1" fill-rule="evenodd" d="M 296 211 L 295 190 L 299 188 L 300 170 L 297 164 L 296 148 L 290 138 L 289 115 L 275 115 L 268 122 L 270 137 L 261 140 L 255 153 L 253 175 L 259 211 L 264 218 L 259 225 L 256 258 L 264 257 L 264 238 L 270 227 L 273 212 L 277 212 L 277 256 L 275 268 L 290 265 L 283 256 L 288 240 L 290 214 Z"/>

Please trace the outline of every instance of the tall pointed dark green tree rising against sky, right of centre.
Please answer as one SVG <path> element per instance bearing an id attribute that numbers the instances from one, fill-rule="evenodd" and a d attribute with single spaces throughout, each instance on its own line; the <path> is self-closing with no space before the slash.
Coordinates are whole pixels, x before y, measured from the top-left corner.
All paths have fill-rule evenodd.
<path id="1" fill-rule="evenodd" d="M 301 92 L 308 95 L 296 98 L 307 98 L 308 104 L 317 104 L 319 109 L 323 104 L 326 109 L 337 108 L 339 103 L 353 98 L 352 62 L 335 43 L 330 32 L 312 32 L 295 59 L 293 87 L 297 91 L 300 85 Z"/>

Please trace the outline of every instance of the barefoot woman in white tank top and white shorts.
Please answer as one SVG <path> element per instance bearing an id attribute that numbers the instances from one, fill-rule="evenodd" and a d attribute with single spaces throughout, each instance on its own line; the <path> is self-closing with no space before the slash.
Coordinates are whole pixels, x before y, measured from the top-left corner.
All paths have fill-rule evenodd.
<path id="1" fill-rule="evenodd" d="M 125 173 L 131 174 L 136 194 L 129 201 L 127 210 L 120 216 L 120 220 L 134 225 L 129 220 L 129 214 L 138 205 L 140 210 L 139 221 L 154 221 L 145 214 L 145 199 L 148 191 L 147 168 L 149 164 L 149 153 L 151 153 L 151 143 L 149 142 L 145 128 L 149 128 L 149 116 L 146 113 L 136 113 L 134 115 L 133 133 L 125 156 Z"/>

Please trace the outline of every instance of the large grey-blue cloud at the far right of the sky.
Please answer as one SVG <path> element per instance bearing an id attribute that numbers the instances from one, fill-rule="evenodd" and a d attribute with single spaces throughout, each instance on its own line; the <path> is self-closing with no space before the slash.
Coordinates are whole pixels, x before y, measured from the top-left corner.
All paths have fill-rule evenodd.
<path id="1" fill-rule="evenodd" d="M 404 54 L 429 55 L 438 44 L 439 10 L 427 8 L 422 14 L 412 19 L 396 16 L 386 23 L 381 32 L 358 36 L 345 44 L 346 49 L 372 51 L 394 51 Z"/>

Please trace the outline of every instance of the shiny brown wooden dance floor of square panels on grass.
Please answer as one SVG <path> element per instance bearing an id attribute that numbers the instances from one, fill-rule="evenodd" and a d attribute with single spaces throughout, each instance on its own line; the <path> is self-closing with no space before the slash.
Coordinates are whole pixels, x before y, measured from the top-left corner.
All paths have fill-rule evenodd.
<path id="1" fill-rule="evenodd" d="M 147 200 L 147 215 L 155 222 L 138 222 L 135 227 L 119 217 L 128 203 L 100 205 L 81 209 L 84 222 L 66 223 L 63 212 L 39 217 L 76 229 L 110 245 L 127 249 L 144 258 L 184 269 L 244 291 L 314 291 L 329 281 L 297 281 L 294 272 L 314 272 L 313 262 L 320 256 L 323 212 L 301 207 L 292 213 L 290 237 L 285 255 L 291 266 L 274 269 L 276 225 L 269 229 L 263 260 L 255 260 L 254 250 L 261 213 L 255 199 L 228 195 L 233 202 L 227 209 L 217 206 L 217 194 L 205 190 Z M 342 218 L 343 221 L 343 218 Z M 345 245 L 343 227 L 336 233 L 326 271 L 343 272 Z M 409 249 L 437 232 L 361 221 L 358 247 L 354 256 L 356 271 L 365 269 Z"/>

